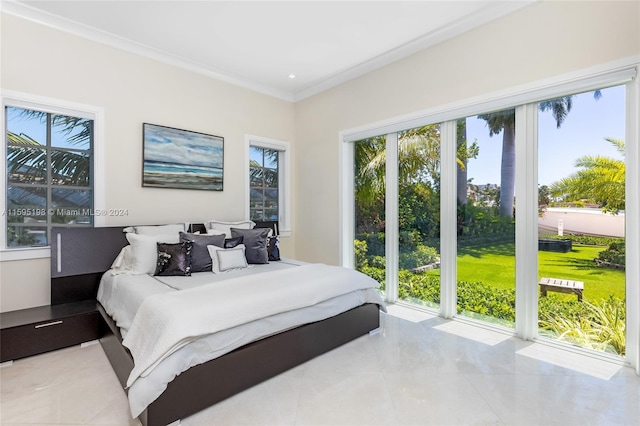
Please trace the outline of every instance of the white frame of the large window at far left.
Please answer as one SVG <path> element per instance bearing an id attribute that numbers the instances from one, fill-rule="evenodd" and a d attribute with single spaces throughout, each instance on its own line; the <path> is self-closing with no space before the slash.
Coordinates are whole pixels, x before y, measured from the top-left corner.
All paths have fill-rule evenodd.
<path id="1" fill-rule="evenodd" d="M 0 150 L 3 156 L 6 156 L 6 123 L 4 110 L 7 106 L 25 108 L 37 111 L 51 112 L 54 114 L 64 114 L 73 117 L 81 117 L 93 120 L 93 209 L 102 210 L 105 208 L 105 188 L 104 188 L 104 110 L 103 108 L 69 102 L 60 99 L 48 98 L 44 96 L 33 95 L 29 93 L 16 92 L 10 90 L 0 91 L 2 98 L 2 120 L 0 121 Z M 6 164 L 6 158 L 2 161 Z M 40 259 L 51 256 L 50 246 L 46 247 L 7 247 L 7 229 L 6 217 L 4 213 L 7 209 L 7 176 L 6 169 L 0 174 L 0 211 L 2 211 L 2 231 L 0 232 L 0 262 Z M 93 226 L 100 227 L 106 225 L 106 218 L 95 216 Z"/>

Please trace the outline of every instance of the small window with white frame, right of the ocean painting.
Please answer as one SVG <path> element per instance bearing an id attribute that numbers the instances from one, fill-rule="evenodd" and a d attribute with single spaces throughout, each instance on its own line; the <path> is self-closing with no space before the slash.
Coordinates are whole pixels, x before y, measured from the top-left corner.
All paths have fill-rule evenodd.
<path id="1" fill-rule="evenodd" d="M 277 221 L 281 235 L 290 233 L 289 144 L 246 136 L 247 217 L 254 221 Z"/>

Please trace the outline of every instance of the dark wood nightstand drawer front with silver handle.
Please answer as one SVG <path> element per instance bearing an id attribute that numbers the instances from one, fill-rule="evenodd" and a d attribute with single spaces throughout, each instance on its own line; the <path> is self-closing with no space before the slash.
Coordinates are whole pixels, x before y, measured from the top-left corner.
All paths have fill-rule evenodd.
<path id="1" fill-rule="evenodd" d="M 0 362 L 36 355 L 100 338 L 97 311 L 3 328 Z"/>

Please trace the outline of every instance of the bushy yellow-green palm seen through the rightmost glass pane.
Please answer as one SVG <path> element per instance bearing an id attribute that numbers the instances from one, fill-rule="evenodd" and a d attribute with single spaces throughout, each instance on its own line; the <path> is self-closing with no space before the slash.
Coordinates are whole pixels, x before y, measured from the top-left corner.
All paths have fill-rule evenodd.
<path id="1" fill-rule="evenodd" d="M 625 143 L 605 138 L 624 158 Z M 604 156 L 586 155 L 576 160 L 580 168 L 570 176 L 554 182 L 551 194 L 569 200 L 594 200 L 605 212 L 617 214 L 625 207 L 625 161 Z"/>

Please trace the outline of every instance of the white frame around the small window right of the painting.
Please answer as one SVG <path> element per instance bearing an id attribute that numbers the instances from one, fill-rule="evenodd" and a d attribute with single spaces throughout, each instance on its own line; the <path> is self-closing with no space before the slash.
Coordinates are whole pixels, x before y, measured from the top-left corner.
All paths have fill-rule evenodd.
<path id="1" fill-rule="evenodd" d="M 245 135 L 245 218 L 249 219 L 249 161 L 250 148 L 272 149 L 278 151 L 278 232 L 283 237 L 291 236 L 291 145 L 289 142 L 262 136 Z"/>

